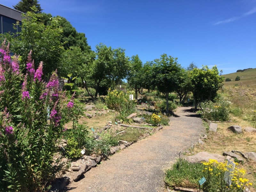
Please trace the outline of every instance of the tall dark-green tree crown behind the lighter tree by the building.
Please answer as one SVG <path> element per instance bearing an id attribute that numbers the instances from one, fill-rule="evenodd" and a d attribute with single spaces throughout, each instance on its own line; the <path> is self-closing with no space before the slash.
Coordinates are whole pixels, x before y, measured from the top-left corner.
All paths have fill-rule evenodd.
<path id="1" fill-rule="evenodd" d="M 51 25 L 52 18 L 58 18 L 58 26 L 61 26 L 63 29 L 63 36 L 61 37 L 61 43 L 65 49 L 68 49 L 71 46 L 80 47 L 83 52 L 90 52 L 91 47 L 87 43 L 87 38 L 84 33 L 78 33 L 76 28 L 72 27 L 70 22 L 64 17 L 56 16 L 52 17 L 50 13 L 42 13 L 42 21 L 44 25 Z"/>

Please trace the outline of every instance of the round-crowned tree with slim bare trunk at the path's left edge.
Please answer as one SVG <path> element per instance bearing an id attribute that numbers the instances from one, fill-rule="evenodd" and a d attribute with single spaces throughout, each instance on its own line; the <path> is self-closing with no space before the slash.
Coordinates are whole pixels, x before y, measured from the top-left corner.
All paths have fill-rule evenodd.
<path id="1" fill-rule="evenodd" d="M 179 84 L 179 76 L 181 76 L 181 66 L 177 62 L 178 58 L 161 55 L 160 59 L 155 59 L 153 66 L 154 79 L 157 90 L 164 92 L 166 95 L 166 112 L 168 110 L 169 93 L 174 91 Z"/>

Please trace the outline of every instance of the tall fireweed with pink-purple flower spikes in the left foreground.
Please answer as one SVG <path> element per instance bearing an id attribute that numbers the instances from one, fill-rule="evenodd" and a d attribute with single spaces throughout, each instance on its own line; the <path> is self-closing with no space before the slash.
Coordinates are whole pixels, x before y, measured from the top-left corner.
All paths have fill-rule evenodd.
<path id="1" fill-rule="evenodd" d="M 43 82 L 31 52 L 26 75 L 5 41 L 0 57 L 0 191 L 42 191 L 63 166 L 53 156 L 74 103 L 58 91 L 57 71 Z"/>

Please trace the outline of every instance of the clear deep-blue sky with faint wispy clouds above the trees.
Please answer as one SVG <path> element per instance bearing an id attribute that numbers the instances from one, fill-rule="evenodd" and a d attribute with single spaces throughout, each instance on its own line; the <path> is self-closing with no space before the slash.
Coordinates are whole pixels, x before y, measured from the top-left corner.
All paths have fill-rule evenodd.
<path id="1" fill-rule="evenodd" d="M 0 0 L 12 7 L 19 0 Z M 39 0 L 65 17 L 89 45 L 102 42 L 143 62 L 166 53 L 187 67 L 217 65 L 223 74 L 256 68 L 256 0 Z"/>

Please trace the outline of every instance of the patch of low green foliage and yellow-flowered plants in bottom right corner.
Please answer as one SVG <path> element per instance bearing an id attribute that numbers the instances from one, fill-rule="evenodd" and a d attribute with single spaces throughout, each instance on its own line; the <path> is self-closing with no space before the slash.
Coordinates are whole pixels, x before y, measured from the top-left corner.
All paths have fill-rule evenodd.
<path id="1" fill-rule="evenodd" d="M 234 171 L 229 169 L 227 162 L 221 163 L 214 159 L 209 162 L 189 163 L 187 160 L 177 160 L 172 169 L 165 172 L 165 183 L 170 187 L 199 188 L 199 180 L 205 177 L 206 181 L 201 186 L 205 192 L 243 192 L 244 189 L 250 188 L 252 183 L 244 178 L 246 174 L 244 169 L 235 168 Z M 224 176 L 231 179 L 231 185 L 227 185 Z"/>

